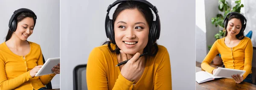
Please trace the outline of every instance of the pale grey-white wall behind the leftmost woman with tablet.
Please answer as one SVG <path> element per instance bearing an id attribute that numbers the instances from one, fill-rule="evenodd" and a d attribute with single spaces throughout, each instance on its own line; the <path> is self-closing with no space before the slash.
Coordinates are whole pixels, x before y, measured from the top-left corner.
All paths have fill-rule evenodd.
<path id="1" fill-rule="evenodd" d="M 44 58 L 60 57 L 59 0 L 0 0 L 0 43 L 5 41 L 9 19 L 20 8 L 31 9 L 37 15 L 33 34 L 28 41 L 41 46 Z M 52 79 L 52 88 L 60 87 L 60 75 Z"/>

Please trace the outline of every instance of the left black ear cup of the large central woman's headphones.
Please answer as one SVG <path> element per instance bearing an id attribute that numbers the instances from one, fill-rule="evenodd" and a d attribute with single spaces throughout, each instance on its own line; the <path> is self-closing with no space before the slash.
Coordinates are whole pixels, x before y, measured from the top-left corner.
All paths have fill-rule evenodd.
<path id="1" fill-rule="evenodd" d="M 111 41 L 112 44 L 116 44 L 112 22 L 113 22 L 113 20 L 108 21 L 108 38 L 109 38 L 109 40 Z"/>

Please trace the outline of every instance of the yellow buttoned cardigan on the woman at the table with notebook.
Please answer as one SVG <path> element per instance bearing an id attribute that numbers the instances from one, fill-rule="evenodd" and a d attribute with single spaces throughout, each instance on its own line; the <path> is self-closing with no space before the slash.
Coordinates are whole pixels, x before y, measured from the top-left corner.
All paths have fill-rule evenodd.
<path id="1" fill-rule="evenodd" d="M 214 67 L 209 64 L 212 59 L 218 54 L 221 54 L 221 59 L 225 65 L 225 68 L 245 70 L 244 79 L 248 74 L 252 73 L 252 59 L 253 59 L 253 44 L 250 38 L 244 37 L 237 46 L 229 48 L 224 43 L 225 38 L 218 39 L 212 45 L 207 56 L 201 64 L 202 69 L 212 73 Z"/>

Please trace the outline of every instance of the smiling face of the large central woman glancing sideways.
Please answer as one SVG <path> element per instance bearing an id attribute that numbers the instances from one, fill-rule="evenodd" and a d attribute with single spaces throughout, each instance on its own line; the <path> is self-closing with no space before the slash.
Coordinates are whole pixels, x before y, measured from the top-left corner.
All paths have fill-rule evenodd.
<path id="1" fill-rule="evenodd" d="M 143 53 L 148 43 L 149 26 L 137 9 L 125 9 L 114 22 L 116 45 L 126 54 Z"/>

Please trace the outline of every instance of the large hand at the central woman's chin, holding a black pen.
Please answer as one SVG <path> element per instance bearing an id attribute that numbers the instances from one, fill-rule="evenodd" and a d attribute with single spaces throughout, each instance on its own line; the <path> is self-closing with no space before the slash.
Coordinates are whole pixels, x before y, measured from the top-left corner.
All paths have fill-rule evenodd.
<path id="1" fill-rule="evenodd" d="M 123 61 L 127 60 L 127 55 L 120 50 L 121 58 Z M 134 81 L 138 76 L 143 74 L 142 59 L 138 59 L 140 53 L 137 52 L 123 67 L 121 74 L 129 81 Z"/>

